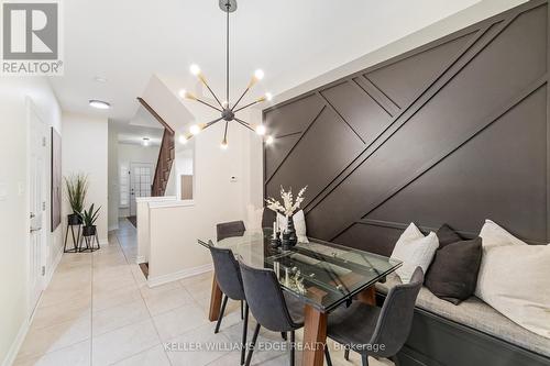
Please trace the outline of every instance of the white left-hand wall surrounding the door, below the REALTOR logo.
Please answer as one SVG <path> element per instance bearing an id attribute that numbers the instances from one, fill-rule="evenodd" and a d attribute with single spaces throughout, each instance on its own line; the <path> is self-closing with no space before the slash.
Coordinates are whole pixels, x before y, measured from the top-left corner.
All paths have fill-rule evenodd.
<path id="1" fill-rule="evenodd" d="M 26 331 L 28 313 L 28 126 L 25 97 L 50 127 L 62 133 L 61 109 L 48 82 L 38 77 L 0 77 L 0 364 L 11 363 Z M 50 138 L 47 138 L 50 141 Z M 50 148 L 50 142 L 46 148 Z M 50 164 L 46 164 L 50 166 Z M 45 210 L 46 273 L 62 251 L 62 228 L 50 232 L 50 171 Z M 20 190 L 21 188 L 21 190 Z M 47 278 L 45 278 L 47 281 Z"/>

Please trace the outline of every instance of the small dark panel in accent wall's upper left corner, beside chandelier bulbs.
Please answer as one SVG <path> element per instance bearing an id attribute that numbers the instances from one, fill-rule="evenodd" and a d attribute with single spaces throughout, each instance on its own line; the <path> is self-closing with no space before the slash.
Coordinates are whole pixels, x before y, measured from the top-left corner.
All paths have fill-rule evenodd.
<path id="1" fill-rule="evenodd" d="M 297 100 L 264 114 L 264 123 L 275 136 L 301 132 L 324 106 L 316 95 Z"/>

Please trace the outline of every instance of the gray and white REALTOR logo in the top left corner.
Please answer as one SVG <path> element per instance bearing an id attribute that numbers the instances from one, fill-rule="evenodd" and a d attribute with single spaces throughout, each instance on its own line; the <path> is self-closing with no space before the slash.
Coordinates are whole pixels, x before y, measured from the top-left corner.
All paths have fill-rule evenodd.
<path id="1" fill-rule="evenodd" d="M 3 75 L 62 75 L 59 2 L 2 3 Z"/>

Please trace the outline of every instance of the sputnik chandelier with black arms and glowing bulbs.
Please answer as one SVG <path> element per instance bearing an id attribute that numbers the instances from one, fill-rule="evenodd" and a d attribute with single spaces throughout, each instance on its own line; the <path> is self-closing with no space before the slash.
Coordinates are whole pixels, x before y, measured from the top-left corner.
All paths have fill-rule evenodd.
<path id="1" fill-rule="evenodd" d="M 190 93 L 189 91 L 186 91 L 186 90 L 182 90 L 179 91 L 179 96 L 182 98 L 185 98 L 185 99 L 189 99 L 189 100 L 195 100 L 204 106 L 207 106 L 218 112 L 220 112 L 221 117 L 213 120 L 213 121 L 210 121 L 208 123 L 201 123 L 201 124 L 194 124 L 190 126 L 189 129 L 189 134 L 187 135 L 182 135 L 179 137 L 179 142 L 180 143 L 186 143 L 189 138 L 191 138 L 194 135 L 197 135 L 199 134 L 202 130 L 205 129 L 208 129 L 209 126 L 220 122 L 220 121 L 224 121 L 226 122 L 226 129 L 223 131 L 223 140 L 221 142 L 221 145 L 220 147 L 221 148 L 228 148 L 228 124 L 229 122 L 237 122 L 243 126 L 245 126 L 246 129 L 249 130 L 252 130 L 252 131 L 255 131 L 258 135 L 262 135 L 262 136 L 265 136 L 265 133 L 266 133 L 266 129 L 263 124 L 257 124 L 257 125 L 253 125 L 249 122 L 245 122 L 243 120 L 241 120 L 240 118 L 238 118 L 235 114 L 246 108 L 250 108 L 254 104 L 257 104 L 257 103 L 261 103 L 265 100 L 271 100 L 272 99 L 272 96 L 271 93 L 265 93 L 265 96 L 262 96 L 260 98 L 257 98 L 256 100 L 254 100 L 253 102 L 250 102 L 248 104 L 244 104 L 242 107 L 239 107 L 239 103 L 241 102 L 241 100 L 244 98 L 244 96 L 249 92 L 250 89 L 252 89 L 252 87 L 258 82 L 260 80 L 263 79 L 264 77 L 264 71 L 262 71 L 261 69 L 257 69 L 254 71 L 254 75 L 252 76 L 252 79 L 250 80 L 249 85 L 246 86 L 246 88 L 244 89 L 243 93 L 241 95 L 241 97 L 239 97 L 239 99 L 237 100 L 237 102 L 234 103 L 230 103 L 230 95 L 229 95 L 229 14 L 234 12 L 237 10 L 237 0 L 219 0 L 219 5 L 220 5 L 220 9 L 226 12 L 227 14 L 227 33 L 226 33 L 226 36 L 227 36 L 227 43 L 226 43 L 226 100 L 222 102 L 220 101 L 220 99 L 218 98 L 218 96 L 213 92 L 213 90 L 210 88 L 210 86 L 208 85 L 207 80 L 206 80 L 206 77 L 205 75 L 202 74 L 202 71 L 200 70 L 199 66 L 198 65 L 191 65 L 189 70 L 193 75 L 195 75 L 199 80 L 200 82 L 208 89 L 208 91 L 210 92 L 210 95 L 212 95 L 213 99 L 216 100 L 216 102 L 218 103 L 218 106 L 215 106 L 208 101 L 205 101 L 200 98 L 198 98 L 197 96 Z M 265 143 L 267 144 L 271 144 L 273 142 L 273 136 L 266 136 L 265 137 Z"/>

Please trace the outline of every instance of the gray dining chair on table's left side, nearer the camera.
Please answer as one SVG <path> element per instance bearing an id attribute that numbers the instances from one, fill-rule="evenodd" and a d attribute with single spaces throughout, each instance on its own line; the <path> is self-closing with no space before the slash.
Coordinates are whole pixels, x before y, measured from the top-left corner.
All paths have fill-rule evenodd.
<path id="1" fill-rule="evenodd" d="M 294 366 L 295 331 L 304 326 L 304 303 L 288 292 L 283 292 L 273 270 L 252 268 L 242 260 L 239 260 L 239 265 L 246 303 L 257 321 L 245 365 L 250 365 L 260 328 L 264 326 L 273 332 L 290 332 L 290 366 Z"/>

